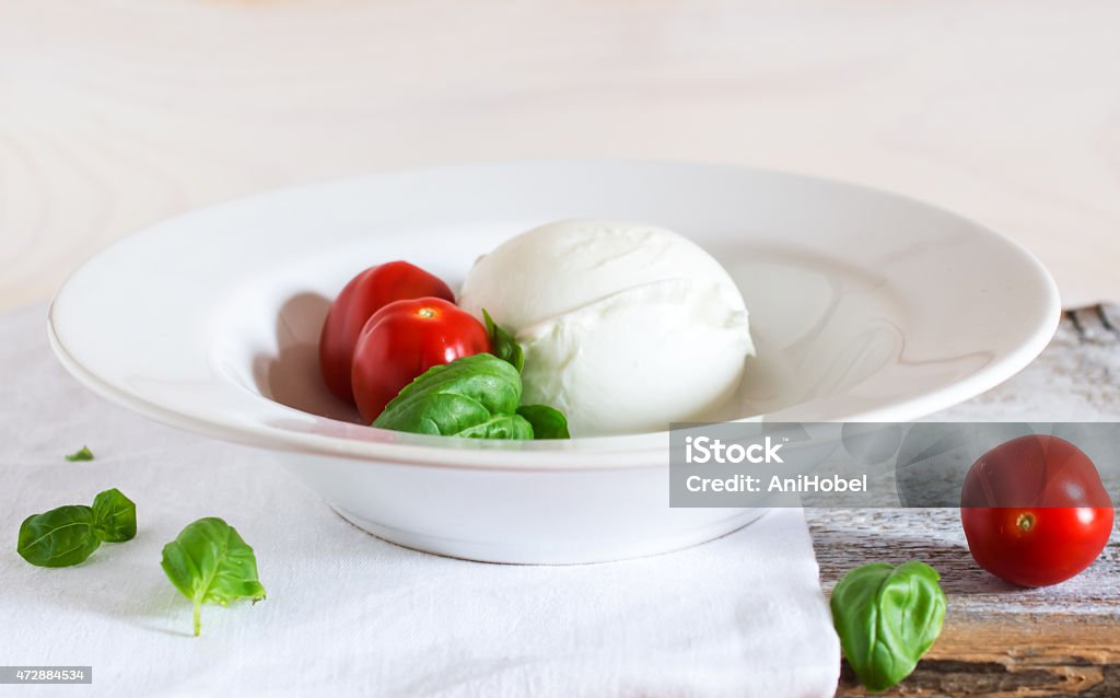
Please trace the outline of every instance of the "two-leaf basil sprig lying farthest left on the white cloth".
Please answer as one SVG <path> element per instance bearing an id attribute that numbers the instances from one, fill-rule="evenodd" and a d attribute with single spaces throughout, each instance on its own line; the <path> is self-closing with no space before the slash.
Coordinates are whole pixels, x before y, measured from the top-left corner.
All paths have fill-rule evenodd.
<path id="1" fill-rule="evenodd" d="M 34 514 L 19 527 L 16 551 L 38 567 L 71 567 L 93 555 L 102 542 L 132 540 L 137 505 L 120 490 L 106 490 L 93 506 L 71 504 Z"/>

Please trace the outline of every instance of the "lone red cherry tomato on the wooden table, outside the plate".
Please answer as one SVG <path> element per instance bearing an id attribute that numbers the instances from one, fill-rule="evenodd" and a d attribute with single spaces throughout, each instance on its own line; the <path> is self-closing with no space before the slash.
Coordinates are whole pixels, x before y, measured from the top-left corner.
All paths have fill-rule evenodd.
<path id="1" fill-rule="evenodd" d="M 1048 586 L 1092 565 L 1112 532 L 1112 499 L 1080 448 L 1021 436 L 972 465 L 961 523 L 980 567 L 1019 586 Z"/>

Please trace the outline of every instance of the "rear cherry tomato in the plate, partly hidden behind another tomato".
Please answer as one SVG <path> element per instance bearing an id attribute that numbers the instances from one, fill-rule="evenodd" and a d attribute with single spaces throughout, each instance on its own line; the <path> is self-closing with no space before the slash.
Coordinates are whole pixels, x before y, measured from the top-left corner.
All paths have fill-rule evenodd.
<path id="1" fill-rule="evenodd" d="M 374 313 L 408 298 L 455 300 L 446 283 L 408 262 L 371 267 L 351 279 L 332 304 L 319 336 L 319 367 L 330 392 L 354 403 L 351 362 L 362 328 Z"/>

